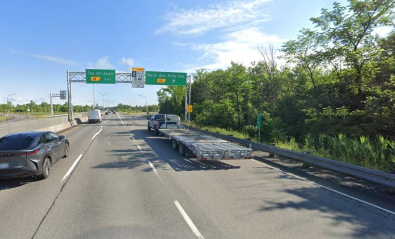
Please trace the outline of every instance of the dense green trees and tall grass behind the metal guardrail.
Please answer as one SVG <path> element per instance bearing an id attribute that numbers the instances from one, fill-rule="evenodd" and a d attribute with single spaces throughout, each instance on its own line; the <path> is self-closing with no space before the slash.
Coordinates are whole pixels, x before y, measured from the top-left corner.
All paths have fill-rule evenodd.
<path id="1" fill-rule="evenodd" d="M 261 114 L 262 143 L 394 170 L 394 7 L 387 0 L 334 3 L 280 49 L 259 46 L 261 61 L 197 70 L 192 122 L 257 141 Z M 384 28 L 388 34 L 375 31 Z M 184 117 L 185 87 L 157 95 L 161 113 Z"/>

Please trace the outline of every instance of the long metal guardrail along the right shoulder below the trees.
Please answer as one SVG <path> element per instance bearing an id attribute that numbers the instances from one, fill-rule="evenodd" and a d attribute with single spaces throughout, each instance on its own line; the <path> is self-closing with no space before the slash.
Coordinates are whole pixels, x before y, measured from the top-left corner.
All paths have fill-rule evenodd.
<path id="1" fill-rule="evenodd" d="M 362 178 L 367 181 L 382 184 L 385 186 L 395 188 L 395 174 L 386 173 L 379 170 L 369 169 L 357 165 L 347 164 L 344 162 L 331 160 L 325 157 L 318 157 L 312 154 L 301 153 L 293 150 L 282 149 L 271 145 L 256 143 L 253 141 L 242 140 L 241 138 L 232 137 L 224 134 L 214 133 L 207 130 L 197 129 L 190 126 L 185 128 L 208 134 L 214 137 L 222 138 L 223 140 L 249 146 L 251 144 L 253 149 L 259 149 L 269 153 L 275 153 L 281 156 L 289 157 L 294 160 L 316 165 L 322 168 L 330 169 L 336 172 L 346 173 L 355 177 Z"/>

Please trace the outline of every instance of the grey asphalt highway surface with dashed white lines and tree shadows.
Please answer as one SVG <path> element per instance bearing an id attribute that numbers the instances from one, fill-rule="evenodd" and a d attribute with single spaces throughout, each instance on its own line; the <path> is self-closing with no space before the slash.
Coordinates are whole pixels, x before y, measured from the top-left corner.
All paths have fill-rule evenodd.
<path id="1" fill-rule="evenodd" d="M 387 198 L 330 191 L 264 161 L 184 158 L 143 116 L 63 134 L 70 155 L 49 178 L 0 181 L 1 238 L 395 237 Z"/>

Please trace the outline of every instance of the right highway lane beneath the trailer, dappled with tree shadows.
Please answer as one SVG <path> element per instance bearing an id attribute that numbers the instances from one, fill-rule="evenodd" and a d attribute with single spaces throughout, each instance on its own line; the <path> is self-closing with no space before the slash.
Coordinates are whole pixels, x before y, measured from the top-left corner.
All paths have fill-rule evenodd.
<path id="1" fill-rule="evenodd" d="M 230 238 L 395 235 L 392 214 L 254 161 L 185 160 L 172 151 L 169 140 L 147 134 L 145 121 L 132 125 L 140 125 L 132 132 L 141 147 L 160 155 L 153 163 L 165 185 L 171 186 L 169 190 L 180 193 L 174 197 L 184 198 L 179 200 L 184 208 L 201 215 L 193 221 L 208 238 L 214 238 L 210 236 L 213 232 L 206 230 L 208 221 Z"/>

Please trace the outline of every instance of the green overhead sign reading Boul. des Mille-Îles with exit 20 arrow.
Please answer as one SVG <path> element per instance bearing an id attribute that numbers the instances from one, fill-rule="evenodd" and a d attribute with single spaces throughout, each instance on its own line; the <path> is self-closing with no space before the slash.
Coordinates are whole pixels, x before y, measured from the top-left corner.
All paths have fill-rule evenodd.
<path id="1" fill-rule="evenodd" d="M 186 86 L 187 73 L 146 71 L 146 85 Z"/>

